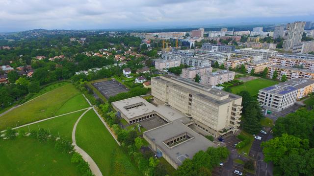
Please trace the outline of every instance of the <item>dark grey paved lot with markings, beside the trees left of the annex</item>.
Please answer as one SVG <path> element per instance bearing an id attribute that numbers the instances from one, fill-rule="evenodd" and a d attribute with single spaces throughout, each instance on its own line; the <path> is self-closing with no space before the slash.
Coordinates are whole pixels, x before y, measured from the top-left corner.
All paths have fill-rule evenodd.
<path id="1" fill-rule="evenodd" d="M 97 88 L 97 90 L 100 91 L 106 98 L 121 92 L 129 91 L 128 88 L 115 80 L 93 83 L 92 85 Z"/>

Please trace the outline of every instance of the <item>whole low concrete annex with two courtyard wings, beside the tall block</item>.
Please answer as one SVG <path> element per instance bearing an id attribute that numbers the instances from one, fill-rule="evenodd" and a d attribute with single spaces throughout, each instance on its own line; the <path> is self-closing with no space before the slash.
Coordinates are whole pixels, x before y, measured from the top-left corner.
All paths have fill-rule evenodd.
<path id="1" fill-rule="evenodd" d="M 184 159 L 200 150 L 216 145 L 188 126 L 194 122 L 179 110 L 166 105 L 155 106 L 141 97 L 112 102 L 113 108 L 129 124 L 149 118 L 162 118 L 167 123 L 143 132 L 143 138 L 151 145 L 158 157 L 164 157 L 175 169 Z"/>

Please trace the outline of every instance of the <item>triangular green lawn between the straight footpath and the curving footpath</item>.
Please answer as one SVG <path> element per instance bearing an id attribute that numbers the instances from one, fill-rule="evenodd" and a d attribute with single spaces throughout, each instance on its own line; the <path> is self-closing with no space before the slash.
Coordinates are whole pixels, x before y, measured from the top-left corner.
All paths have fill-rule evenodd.
<path id="1" fill-rule="evenodd" d="M 18 130 L 29 132 L 32 130 L 38 131 L 39 128 L 45 129 L 50 131 L 53 136 L 59 136 L 62 139 L 66 139 L 68 141 L 72 141 L 72 130 L 74 127 L 75 122 L 78 120 L 78 117 L 84 112 L 85 110 L 81 110 L 75 113 L 71 113 L 68 115 L 62 115 L 50 120 L 46 120 L 43 122 L 39 122 L 33 125 L 29 125 L 26 127 L 19 128 Z M 29 127 L 29 130 L 28 130 Z"/>

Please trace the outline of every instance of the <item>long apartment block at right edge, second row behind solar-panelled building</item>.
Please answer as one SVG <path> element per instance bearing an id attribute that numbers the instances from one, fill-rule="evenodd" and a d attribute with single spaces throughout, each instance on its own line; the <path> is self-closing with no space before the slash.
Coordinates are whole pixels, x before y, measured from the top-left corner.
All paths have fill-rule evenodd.
<path id="1" fill-rule="evenodd" d="M 314 70 L 314 60 L 275 56 L 270 57 L 269 61 L 273 61 L 274 64 L 278 66 L 299 67 Z"/>

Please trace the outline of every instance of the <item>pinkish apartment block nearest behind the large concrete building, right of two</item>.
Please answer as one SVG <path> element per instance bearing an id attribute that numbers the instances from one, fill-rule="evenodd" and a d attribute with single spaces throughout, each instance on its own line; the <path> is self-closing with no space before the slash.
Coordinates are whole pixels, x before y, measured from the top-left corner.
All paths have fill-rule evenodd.
<path id="1" fill-rule="evenodd" d="M 219 70 L 201 76 L 201 84 L 216 86 L 235 79 L 235 72 L 229 70 Z"/>

